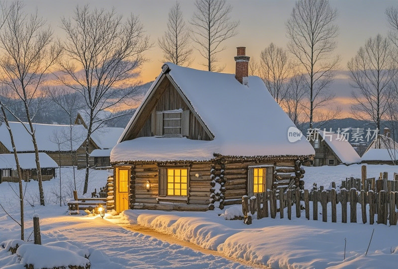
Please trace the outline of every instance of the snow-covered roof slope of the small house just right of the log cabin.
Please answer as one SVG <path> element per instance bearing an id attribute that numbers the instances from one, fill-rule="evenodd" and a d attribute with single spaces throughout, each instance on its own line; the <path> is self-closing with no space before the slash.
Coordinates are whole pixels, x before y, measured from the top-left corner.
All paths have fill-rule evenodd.
<path id="1" fill-rule="evenodd" d="M 361 162 L 361 157 L 351 146 L 350 142 L 343 136 L 332 132 L 316 129 L 326 144 L 332 149 L 343 164 L 357 164 Z"/>

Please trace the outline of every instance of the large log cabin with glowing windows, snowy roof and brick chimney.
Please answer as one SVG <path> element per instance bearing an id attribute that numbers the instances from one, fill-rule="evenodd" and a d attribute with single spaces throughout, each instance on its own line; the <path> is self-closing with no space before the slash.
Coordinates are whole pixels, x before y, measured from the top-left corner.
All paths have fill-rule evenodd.
<path id="1" fill-rule="evenodd" d="M 248 76 L 244 47 L 235 61 L 236 75 L 163 65 L 110 154 L 117 212 L 211 210 L 303 187 L 300 165 L 313 148 L 289 142 L 295 125 L 264 82 Z"/>

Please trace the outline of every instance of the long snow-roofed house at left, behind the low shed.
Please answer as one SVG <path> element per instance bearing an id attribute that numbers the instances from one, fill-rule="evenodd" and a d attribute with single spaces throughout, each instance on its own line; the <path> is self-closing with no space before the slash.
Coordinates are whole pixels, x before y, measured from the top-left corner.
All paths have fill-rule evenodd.
<path id="1" fill-rule="evenodd" d="M 18 153 L 34 152 L 32 138 L 20 122 L 10 122 L 14 137 L 15 147 Z M 28 127 L 28 123 L 23 123 Z M 83 125 L 72 125 L 72 152 L 70 125 L 39 124 L 33 123 L 36 142 L 39 152 L 50 156 L 58 165 L 72 166 L 74 163 L 78 168 L 86 167 L 86 136 L 87 129 Z M 29 129 L 29 127 L 28 127 Z M 100 148 L 101 141 L 92 138 L 89 144 L 89 153 Z M 5 124 L 0 126 L 0 153 L 12 153 L 11 140 Z M 40 159 L 40 158 L 39 158 Z M 40 161 L 41 162 L 41 161 Z M 89 160 L 90 166 L 94 166 L 94 159 Z"/>

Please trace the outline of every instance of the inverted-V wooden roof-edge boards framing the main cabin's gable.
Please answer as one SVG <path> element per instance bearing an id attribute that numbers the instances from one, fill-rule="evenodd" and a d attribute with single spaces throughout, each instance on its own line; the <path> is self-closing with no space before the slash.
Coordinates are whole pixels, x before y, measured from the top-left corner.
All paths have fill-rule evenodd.
<path id="1" fill-rule="evenodd" d="M 188 107 L 188 109 L 194 115 L 195 119 L 198 120 L 200 126 L 204 129 L 206 134 L 209 136 L 210 140 L 212 140 L 214 138 L 214 135 L 211 133 L 211 131 L 206 126 L 206 124 L 203 122 L 203 120 L 199 117 L 199 115 L 196 113 L 196 111 L 192 107 L 190 100 L 188 100 L 188 98 L 185 96 L 185 94 L 182 92 L 182 90 L 176 85 L 173 78 L 167 73 L 168 71 L 169 71 L 168 68 L 163 69 L 162 73 L 159 75 L 159 77 L 153 83 L 151 89 L 148 90 L 148 93 L 144 97 L 143 102 L 138 107 L 138 109 L 134 113 L 132 119 L 127 124 L 127 127 L 125 128 L 124 132 L 120 136 L 118 143 L 120 143 L 122 141 L 137 138 L 139 131 L 144 126 L 147 119 L 151 116 L 152 110 L 154 109 L 154 107 L 157 105 L 159 99 L 162 97 L 162 95 L 167 90 L 167 85 L 169 83 L 172 85 L 173 90 L 175 90 L 176 93 L 181 97 L 184 104 Z"/>

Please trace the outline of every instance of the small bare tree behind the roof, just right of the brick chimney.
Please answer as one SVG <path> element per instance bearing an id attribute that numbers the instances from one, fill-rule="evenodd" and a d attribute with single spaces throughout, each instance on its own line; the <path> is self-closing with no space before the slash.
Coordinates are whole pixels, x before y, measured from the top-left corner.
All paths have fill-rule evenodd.
<path id="1" fill-rule="evenodd" d="M 290 75 L 288 53 L 271 43 L 261 52 L 261 77 L 274 99 L 282 104 L 286 97 L 286 80 Z"/>

